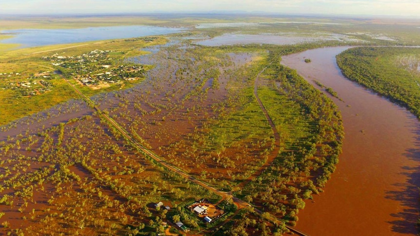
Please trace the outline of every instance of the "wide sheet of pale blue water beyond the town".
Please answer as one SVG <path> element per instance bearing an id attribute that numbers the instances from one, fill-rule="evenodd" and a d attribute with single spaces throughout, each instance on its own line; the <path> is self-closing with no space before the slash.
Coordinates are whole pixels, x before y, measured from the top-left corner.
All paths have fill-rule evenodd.
<path id="1" fill-rule="evenodd" d="M 80 29 L 19 29 L 2 31 L 2 34 L 11 34 L 14 35 L 14 37 L 1 40 L 0 42 L 19 43 L 22 47 L 35 47 L 105 39 L 167 35 L 185 30 L 186 28 L 143 25 L 89 27 Z"/>

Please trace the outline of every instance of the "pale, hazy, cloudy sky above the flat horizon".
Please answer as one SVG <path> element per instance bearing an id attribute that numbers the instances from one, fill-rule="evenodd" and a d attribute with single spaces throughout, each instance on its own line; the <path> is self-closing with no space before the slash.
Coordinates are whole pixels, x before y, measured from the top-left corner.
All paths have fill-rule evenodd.
<path id="1" fill-rule="evenodd" d="M 221 10 L 420 17 L 420 0 L 0 0 L 0 17 Z"/>

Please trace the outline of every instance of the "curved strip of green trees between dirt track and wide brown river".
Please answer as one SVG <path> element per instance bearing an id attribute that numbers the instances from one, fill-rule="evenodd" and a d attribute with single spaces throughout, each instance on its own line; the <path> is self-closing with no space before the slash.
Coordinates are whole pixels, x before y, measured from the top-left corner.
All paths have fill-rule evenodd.
<path id="1" fill-rule="evenodd" d="M 321 191 L 334 172 L 343 127 L 337 107 L 295 71 L 273 63 L 264 75 L 273 85 L 281 84 L 259 94 L 284 146 L 274 163 L 238 194 L 293 225 L 294 215 L 305 207 L 302 199 Z"/>

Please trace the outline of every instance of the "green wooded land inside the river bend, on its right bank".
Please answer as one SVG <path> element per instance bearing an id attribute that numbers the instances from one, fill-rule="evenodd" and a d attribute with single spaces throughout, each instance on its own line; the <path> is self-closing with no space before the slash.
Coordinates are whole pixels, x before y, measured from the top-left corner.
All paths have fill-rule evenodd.
<path id="1" fill-rule="evenodd" d="M 352 48 L 337 55 L 344 75 L 409 109 L 420 118 L 420 49 Z"/>

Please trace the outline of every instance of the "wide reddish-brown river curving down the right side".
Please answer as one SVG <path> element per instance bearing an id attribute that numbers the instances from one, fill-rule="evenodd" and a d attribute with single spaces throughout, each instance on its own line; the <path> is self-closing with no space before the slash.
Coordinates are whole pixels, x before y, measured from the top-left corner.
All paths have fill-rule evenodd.
<path id="1" fill-rule="evenodd" d="M 342 75 L 335 55 L 347 48 L 308 50 L 282 60 L 315 87 L 314 79 L 344 100 L 332 98 L 345 131 L 340 163 L 325 192 L 306 201 L 297 228 L 311 236 L 417 235 L 419 121 Z"/>

